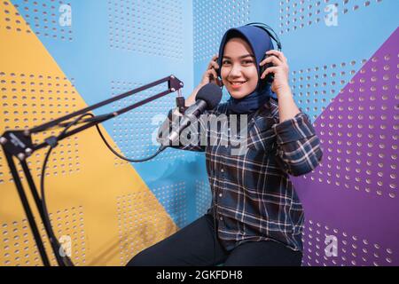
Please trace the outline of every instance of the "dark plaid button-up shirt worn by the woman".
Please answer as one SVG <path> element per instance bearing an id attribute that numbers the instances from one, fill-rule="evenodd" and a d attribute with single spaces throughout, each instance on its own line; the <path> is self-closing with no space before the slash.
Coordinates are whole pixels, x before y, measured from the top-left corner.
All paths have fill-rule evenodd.
<path id="1" fill-rule="evenodd" d="M 207 113 L 231 115 L 226 103 Z M 223 141 L 222 123 L 213 131 L 199 121 L 208 137 Z M 304 214 L 289 175 L 309 173 L 321 161 L 320 141 L 309 116 L 301 112 L 280 123 L 278 102 L 270 99 L 248 119 L 247 133 L 246 152 L 241 155 L 231 154 L 231 144 L 201 146 L 200 138 L 198 143 L 174 147 L 206 152 L 213 196 L 207 213 L 215 212 L 224 248 L 246 241 L 278 241 L 301 251 Z"/>

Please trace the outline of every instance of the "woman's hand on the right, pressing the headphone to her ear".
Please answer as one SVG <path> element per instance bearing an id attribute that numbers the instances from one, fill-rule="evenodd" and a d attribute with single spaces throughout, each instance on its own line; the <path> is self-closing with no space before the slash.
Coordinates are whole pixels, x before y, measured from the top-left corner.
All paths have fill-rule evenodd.
<path id="1" fill-rule="evenodd" d="M 271 91 L 279 95 L 281 92 L 289 90 L 290 88 L 288 83 L 289 67 L 287 59 L 281 51 L 270 50 L 267 51 L 266 54 L 271 56 L 262 60 L 259 65 L 263 66 L 264 64 L 271 62 L 274 67 L 267 68 L 261 75 L 261 79 L 264 79 L 266 75 L 273 73 L 274 80 L 271 84 Z"/>

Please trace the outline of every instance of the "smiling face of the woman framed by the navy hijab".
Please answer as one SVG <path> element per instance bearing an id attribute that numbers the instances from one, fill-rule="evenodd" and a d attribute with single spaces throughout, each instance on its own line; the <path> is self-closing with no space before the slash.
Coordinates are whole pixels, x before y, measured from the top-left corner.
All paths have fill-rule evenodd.
<path id="1" fill-rule="evenodd" d="M 221 75 L 224 86 L 234 99 L 252 93 L 258 84 L 256 60 L 245 40 L 234 37 L 224 46 Z"/>

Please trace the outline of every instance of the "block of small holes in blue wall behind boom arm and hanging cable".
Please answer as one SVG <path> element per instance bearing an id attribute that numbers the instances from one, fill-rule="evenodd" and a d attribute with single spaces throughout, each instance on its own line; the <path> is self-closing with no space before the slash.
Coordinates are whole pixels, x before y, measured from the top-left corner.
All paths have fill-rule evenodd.
<path id="1" fill-rule="evenodd" d="M 112 81 L 111 86 L 112 94 L 116 96 L 125 91 L 137 89 L 143 84 Z M 166 90 L 168 90 L 168 85 L 166 83 L 160 84 L 151 88 L 151 90 L 142 91 L 129 96 L 129 98 L 118 100 L 113 103 L 113 110 L 131 106 L 140 100 L 150 98 Z M 176 107 L 176 96 L 169 95 L 115 118 L 112 122 L 112 134 L 117 145 L 121 148 L 122 154 L 132 159 L 143 159 L 155 153 L 160 146 L 155 139 L 158 129 L 160 124 L 167 119 L 168 111 L 173 107 Z M 186 154 L 184 151 L 168 150 L 155 157 L 153 162 L 182 158 Z M 127 163 L 129 162 L 115 157 L 115 166 Z"/>

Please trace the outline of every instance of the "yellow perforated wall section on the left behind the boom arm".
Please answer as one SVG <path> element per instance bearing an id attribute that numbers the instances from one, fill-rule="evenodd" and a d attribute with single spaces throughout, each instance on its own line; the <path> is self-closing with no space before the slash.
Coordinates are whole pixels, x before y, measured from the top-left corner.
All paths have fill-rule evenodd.
<path id="1" fill-rule="evenodd" d="M 8 1 L 0 2 L 0 41 L 2 133 L 31 128 L 86 106 L 73 83 Z M 47 131 L 35 135 L 34 140 L 39 142 L 58 132 Z M 0 265 L 41 265 L 0 152 Z M 36 185 L 45 153 L 42 149 L 27 159 Z M 26 185 L 25 179 L 23 183 Z M 136 170 L 128 163 L 115 164 L 114 155 L 95 128 L 65 139 L 53 151 L 45 188 L 54 231 L 58 237 L 71 238 L 72 260 L 78 265 L 126 264 L 131 256 L 177 230 Z M 41 233 L 44 236 L 43 228 Z M 47 241 L 46 248 L 51 251 Z M 51 263 L 55 264 L 53 257 Z"/>

